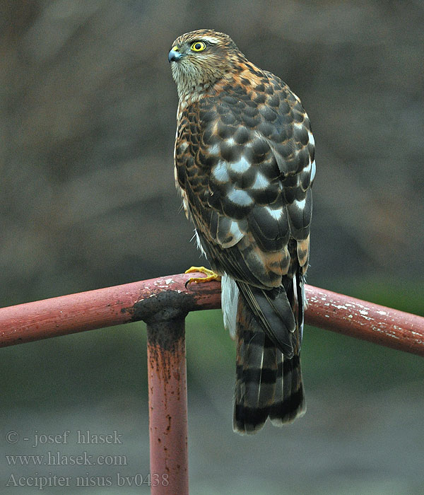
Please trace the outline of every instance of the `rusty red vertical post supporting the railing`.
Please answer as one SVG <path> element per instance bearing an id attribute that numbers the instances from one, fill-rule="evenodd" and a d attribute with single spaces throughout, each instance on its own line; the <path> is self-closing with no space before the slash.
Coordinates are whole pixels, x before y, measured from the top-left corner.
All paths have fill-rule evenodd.
<path id="1" fill-rule="evenodd" d="M 151 494 L 189 493 L 184 318 L 148 322 Z"/>

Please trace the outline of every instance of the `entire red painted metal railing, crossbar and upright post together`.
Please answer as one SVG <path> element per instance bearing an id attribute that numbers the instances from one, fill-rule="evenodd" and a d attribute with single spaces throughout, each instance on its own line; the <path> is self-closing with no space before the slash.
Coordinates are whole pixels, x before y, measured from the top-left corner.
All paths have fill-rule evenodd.
<path id="1" fill-rule="evenodd" d="M 220 308 L 220 284 L 177 274 L 0 308 L 0 347 L 143 320 L 147 325 L 151 472 L 167 474 L 153 495 L 188 494 L 184 320 Z M 305 322 L 424 356 L 424 318 L 305 287 Z"/>

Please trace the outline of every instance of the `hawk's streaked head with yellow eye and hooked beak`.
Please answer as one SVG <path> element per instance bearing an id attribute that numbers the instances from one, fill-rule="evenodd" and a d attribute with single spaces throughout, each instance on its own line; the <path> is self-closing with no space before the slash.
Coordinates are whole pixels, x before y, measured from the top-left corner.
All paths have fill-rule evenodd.
<path id="1" fill-rule="evenodd" d="M 179 99 L 187 100 L 232 74 L 245 57 L 228 35 L 204 29 L 177 37 L 168 60 Z"/>

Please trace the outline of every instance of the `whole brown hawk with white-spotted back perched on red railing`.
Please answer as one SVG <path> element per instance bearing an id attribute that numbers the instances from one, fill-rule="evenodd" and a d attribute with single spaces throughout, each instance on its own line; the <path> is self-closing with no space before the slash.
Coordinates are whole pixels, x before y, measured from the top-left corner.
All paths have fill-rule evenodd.
<path id="1" fill-rule="evenodd" d="M 222 277 L 224 324 L 237 339 L 233 429 L 254 433 L 268 417 L 281 426 L 306 410 L 299 352 L 315 175 L 310 120 L 290 88 L 228 35 L 186 33 L 168 59 L 179 96 L 175 182 Z"/>

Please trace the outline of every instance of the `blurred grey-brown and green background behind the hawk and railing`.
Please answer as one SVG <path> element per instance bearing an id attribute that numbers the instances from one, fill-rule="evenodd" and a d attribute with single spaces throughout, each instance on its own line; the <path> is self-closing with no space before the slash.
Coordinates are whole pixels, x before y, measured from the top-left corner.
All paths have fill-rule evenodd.
<path id="1" fill-rule="evenodd" d="M 317 143 L 308 282 L 423 314 L 424 3 L 15 0 L 0 3 L 0 305 L 203 263 L 180 211 L 167 52 L 228 33 L 302 99 Z M 148 493 L 143 324 L 1 349 L 1 483 L 70 476 L 66 493 Z M 423 361 L 307 328 L 308 412 L 232 433 L 234 343 L 220 311 L 187 318 L 196 494 L 422 494 Z M 71 431 L 67 445 L 35 435 Z M 122 445 L 77 445 L 77 431 Z M 4 439 L 19 434 L 17 443 Z M 30 438 L 25 441 L 23 438 Z M 11 465 L 5 455 L 125 455 L 126 465 Z M 38 474 L 35 474 L 38 473 Z M 77 477 L 93 477 L 76 487 Z M 111 477 L 112 487 L 102 487 Z M 88 482 L 87 482 L 88 483 Z M 52 494 L 64 489 L 46 487 Z"/>

